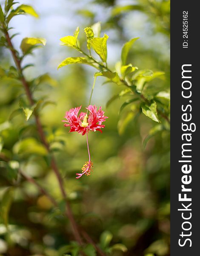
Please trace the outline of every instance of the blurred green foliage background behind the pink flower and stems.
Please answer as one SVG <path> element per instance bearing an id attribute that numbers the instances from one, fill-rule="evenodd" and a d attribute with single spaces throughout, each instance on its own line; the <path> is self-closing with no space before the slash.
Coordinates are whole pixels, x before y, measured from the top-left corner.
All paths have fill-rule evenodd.
<path id="1" fill-rule="evenodd" d="M 123 1 L 89 1 L 89 7 L 86 5 L 85 10 L 74 12 L 74 20 L 82 17 L 83 28 L 97 23 L 99 20 L 96 16 L 102 12 L 102 31 L 109 35 L 107 63 L 112 72 L 117 72 L 117 66 L 112 58 L 109 59 L 112 57 L 109 49 L 116 44 L 121 48 L 130 40 L 125 20 L 128 20 L 126 24 L 131 29 L 137 27 L 137 24 L 131 23 L 134 17 L 139 19 L 139 24 L 140 19 L 145 20 L 148 27 L 147 34 L 145 29 L 142 35 L 133 33 L 132 38 L 139 36 L 143 40 L 135 41 L 128 52 L 126 43 L 122 64 L 123 67 L 128 63 L 131 65 L 123 69 L 120 67 L 118 85 L 107 83 L 106 79 L 111 80 L 113 77 L 110 79 L 110 74 L 108 77 L 108 73 L 103 73 L 105 69 L 99 70 L 101 76 L 106 78 L 97 77 L 91 103 L 101 105 L 109 119 L 106 119 L 103 134 L 89 133 L 94 163 L 94 172 L 89 177 L 75 179 L 75 173 L 80 172 L 83 163 L 88 160 L 86 137 L 77 133 L 69 134 L 61 120 L 70 108 L 87 106 L 92 77 L 97 70 L 76 64 L 63 67 L 66 72 L 61 76 L 52 78 L 49 70 L 49 74 L 33 79 L 31 67 L 24 64 L 23 69 L 27 68 L 24 72 L 35 99 L 35 105 L 30 106 L 9 51 L 0 47 L 0 255 L 63 256 L 78 253 L 69 220 L 63 215 L 63 200 L 57 180 L 49 167 L 50 156 L 37 133 L 32 113 L 38 111 L 77 223 L 109 255 L 169 256 L 170 134 L 165 118 L 167 115 L 170 119 L 169 58 L 166 56 L 169 52 L 165 52 L 165 48 L 160 45 L 163 42 L 169 47 L 170 2 L 127 2 L 126 5 Z M 9 3 L 13 1 L 8 0 Z M 72 3 L 66 1 L 67 4 Z M 96 12 L 93 12 L 92 6 L 97 6 Z M 109 15 L 104 17 L 108 8 Z M 4 20 L 3 12 L 0 9 L 1 21 Z M 13 6 L 9 17 L 25 13 L 37 17 L 34 9 L 27 5 L 19 7 L 17 4 Z M 73 29 L 75 27 L 70 28 L 70 31 Z M 66 31 L 66 35 L 70 34 Z M 87 44 L 88 49 L 94 47 L 91 37 L 87 35 L 86 38 L 86 35 L 82 29 L 79 43 L 84 50 L 87 50 Z M 157 40 L 161 40 L 160 44 Z M 45 44 L 43 38 L 21 38 L 21 41 L 24 57 L 38 44 Z M 2 37 L 0 45 L 4 44 Z M 70 45 L 71 41 L 66 44 Z M 59 48 L 59 43 L 54 47 Z M 75 58 L 83 58 L 72 48 L 67 53 L 64 47 L 62 49 L 63 59 L 73 54 Z M 43 50 L 38 49 L 35 58 Z M 50 50 L 49 56 L 53 50 Z M 105 54 L 95 52 L 100 55 L 100 61 L 106 61 Z M 36 67 L 38 73 L 39 69 Z M 134 101 L 135 90 L 130 92 L 128 88 L 127 91 L 121 80 L 135 81 L 137 93 L 142 92 L 151 102 L 148 103 L 149 107 L 142 100 L 138 105 Z M 158 117 L 155 100 L 160 111 Z M 152 113 L 153 118 L 149 116 Z M 160 123 L 147 116 L 154 121 L 158 118 Z M 58 207 L 54 207 L 45 195 L 24 179 L 18 172 L 19 168 L 37 180 L 57 200 Z M 96 255 L 91 244 L 84 248 L 84 252 L 87 256 Z"/>

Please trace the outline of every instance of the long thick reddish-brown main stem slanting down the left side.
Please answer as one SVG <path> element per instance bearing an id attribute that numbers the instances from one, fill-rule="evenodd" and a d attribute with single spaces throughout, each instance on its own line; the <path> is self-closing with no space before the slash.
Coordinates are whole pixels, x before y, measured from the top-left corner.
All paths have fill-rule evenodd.
<path id="1" fill-rule="evenodd" d="M 29 89 L 29 84 L 26 81 L 25 77 L 23 76 L 20 59 L 17 57 L 16 50 L 14 49 L 14 47 L 12 45 L 11 39 L 9 37 L 9 33 L 7 31 L 5 31 L 5 37 L 6 37 L 6 41 L 7 41 L 7 44 L 9 46 L 9 49 L 11 51 L 11 54 L 13 56 L 14 62 L 16 64 L 17 70 L 19 72 L 20 81 L 23 84 L 23 87 L 24 87 L 24 89 L 26 91 L 26 95 L 27 95 L 27 97 L 29 99 L 30 104 L 33 105 L 34 104 L 34 100 L 33 100 L 32 94 L 31 94 L 31 90 Z M 49 144 L 46 141 L 46 137 L 45 137 L 45 134 L 44 134 L 44 131 L 43 131 L 42 124 L 40 122 L 39 116 L 37 115 L 37 113 L 35 111 L 34 111 L 34 116 L 35 116 L 35 121 L 36 121 L 36 125 L 37 125 L 37 131 L 40 134 L 40 139 L 41 139 L 42 143 L 45 145 L 46 149 L 49 151 Z M 50 153 L 50 151 L 49 151 L 49 153 Z M 73 214 L 71 212 L 71 207 L 69 205 L 69 202 L 67 201 L 67 196 L 66 196 L 66 192 L 65 192 L 65 189 L 64 189 L 64 185 L 63 185 L 63 179 L 62 179 L 62 177 L 60 175 L 60 172 L 59 172 L 59 170 L 57 168 L 57 165 L 56 165 L 56 162 L 55 162 L 55 159 L 54 159 L 53 155 L 51 156 L 51 167 L 54 170 L 54 173 L 55 173 L 55 175 L 57 177 L 57 180 L 58 180 L 58 183 L 59 183 L 59 186 L 60 186 L 60 191 L 62 193 L 62 196 L 63 196 L 63 198 L 66 201 L 66 212 L 67 212 L 68 218 L 69 218 L 71 226 L 72 226 L 72 231 L 73 231 L 73 234 L 74 234 L 74 238 L 77 240 L 77 242 L 79 244 L 82 244 L 83 242 L 82 242 L 82 239 L 81 239 L 81 236 L 80 236 L 77 224 L 76 224 L 76 222 L 74 220 L 74 216 L 73 216 Z M 33 180 L 29 180 L 29 181 L 33 182 Z M 40 189 L 40 191 L 41 191 L 41 189 Z"/>

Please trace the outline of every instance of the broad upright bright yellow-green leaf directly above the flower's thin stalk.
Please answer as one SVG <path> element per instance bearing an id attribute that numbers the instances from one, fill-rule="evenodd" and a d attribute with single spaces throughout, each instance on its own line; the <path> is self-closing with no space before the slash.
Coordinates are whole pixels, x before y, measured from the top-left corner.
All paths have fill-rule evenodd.
<path id="1" fill-rule="evenodd" d="M 91 40 L 91 47 L 100 56 L 103 62 L 107 60 L 107 40 L 109 36 L 104 34 L 103 38 L 93 38 Z"/>

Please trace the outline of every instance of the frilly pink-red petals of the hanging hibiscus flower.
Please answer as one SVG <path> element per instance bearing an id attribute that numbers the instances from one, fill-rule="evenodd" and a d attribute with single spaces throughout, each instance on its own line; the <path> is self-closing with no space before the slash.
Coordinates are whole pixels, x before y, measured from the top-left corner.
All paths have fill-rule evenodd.
<path id="1" fill-rule="evenodd" d="M 90 112 L 89 116 L 87 113 L 83 112 L 78 115 L 80 109 L 81 106 L 70 109 L 65 114 L 65 118 L 67 120 L 62 120 L 62 122 L 68 122 L 64 125 L 70 126 L 69 132 L 77 131 L 78 133 L 82 133 L 82 135 L 89 131 L 102 132 L 101 128 L 105 127 L 105 125 L 102 125 L 102 122 L 104 122 L 108 116 L 104 116 L 104 111 L 102 111 L 101 107 L 97 111 L 97 107 L 95 105 L 89 105 L 86 108 Z"/>

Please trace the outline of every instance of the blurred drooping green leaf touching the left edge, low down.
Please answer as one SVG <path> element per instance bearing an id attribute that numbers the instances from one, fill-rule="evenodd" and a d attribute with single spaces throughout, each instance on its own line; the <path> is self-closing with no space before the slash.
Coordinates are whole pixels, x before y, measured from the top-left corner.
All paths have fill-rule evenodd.
<path id="1" fill-rule="evenodd" d="M 8 227 L 8 215 L 9 215 L 9 210 L 10 210 L 13 198 L 14 198 L 14 189 L 10 187 L 6 189 L 6 192 L 3 194 L 3 198 L 0 204 L 0 215 L 6 227 Z"/>

